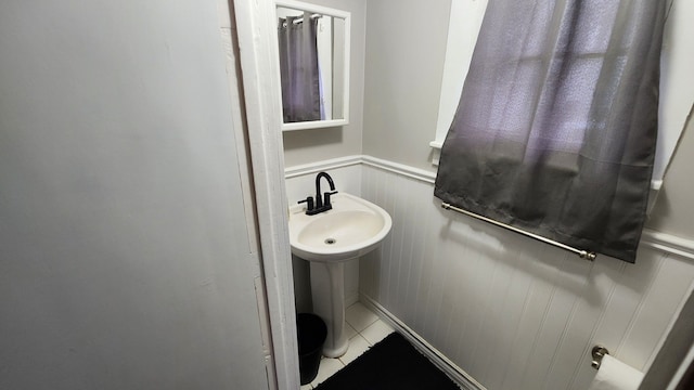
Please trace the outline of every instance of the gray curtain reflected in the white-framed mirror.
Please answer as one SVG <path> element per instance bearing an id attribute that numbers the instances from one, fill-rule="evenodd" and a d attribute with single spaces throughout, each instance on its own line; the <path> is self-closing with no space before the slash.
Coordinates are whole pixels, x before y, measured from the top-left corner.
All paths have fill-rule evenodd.
<path id="1" fill-rule="evenodd" d="M 284 122 L 321 119 L 318 21 L 310 13 L 280 18 L 280 73 Z"/>

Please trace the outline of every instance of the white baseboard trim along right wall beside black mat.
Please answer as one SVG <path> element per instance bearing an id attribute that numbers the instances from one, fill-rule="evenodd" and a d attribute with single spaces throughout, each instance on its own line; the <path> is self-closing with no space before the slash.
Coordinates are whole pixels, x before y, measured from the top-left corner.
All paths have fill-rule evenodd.
<path id="1" fill-rule="evenodd" d="M 448 375 L 451 379 L 459 384 L 462 389 L 487 390 L 470 374 L 465 373 L 462 368 L 455 365 L 455 363 L 446 358 L 446 355 L 444 355 L 439 350 L 434 348 L 430 343 L 426 342 L 426 340 L 422 336 L 417 335 L 402 321 L 400 321 L 393 313 L 382 307 L 378 302 L 363 294 L 359 294 L 359 300 L 363 306 L 378 314 L 381 320 L 388 323 L 388 325 L 393 326 L 393 328 L 404 336 L 404 338 L 408 339 L 408 341 L 410 341 L 414 346 L 414 348 L 416 348 L 426 358 L 428 358 L 432 363 L 434 363 L 440 370 L 442 370 L 446 375 Z"/>

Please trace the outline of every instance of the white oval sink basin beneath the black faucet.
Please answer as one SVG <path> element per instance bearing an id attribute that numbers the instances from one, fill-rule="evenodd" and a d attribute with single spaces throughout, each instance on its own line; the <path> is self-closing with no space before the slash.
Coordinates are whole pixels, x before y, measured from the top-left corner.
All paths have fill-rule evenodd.
<path id="1" fill-rule="evenodd" d="M 292 253 L 309 261 L 346 261 L 378 247 L 390 231 L 390 216 L 368 200 L 337 193 L 331 204 L 332 210 L 314 216 L 307 216 L 303 205 L 291 208 Z"/>

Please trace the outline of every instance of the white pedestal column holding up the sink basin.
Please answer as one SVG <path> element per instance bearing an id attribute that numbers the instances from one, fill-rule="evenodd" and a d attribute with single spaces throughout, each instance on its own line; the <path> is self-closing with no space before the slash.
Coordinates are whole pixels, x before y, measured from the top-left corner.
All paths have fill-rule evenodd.
<path id="1" fill-rule="evenodd" d="M 345 336 L 345 266 L 344 262 L 310 261 L 313 313 L 323 318 L 327 337 L 323 355 L 339 358 L 347 352 Z"/>

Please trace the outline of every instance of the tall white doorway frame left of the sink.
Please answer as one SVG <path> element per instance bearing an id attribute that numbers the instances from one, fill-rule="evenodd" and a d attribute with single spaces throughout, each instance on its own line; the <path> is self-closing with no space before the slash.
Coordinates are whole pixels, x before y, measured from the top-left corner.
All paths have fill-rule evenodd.
<path id="1" fill-rule="evenodd" d="M 280 120 L 280 69 L 275 61 L 279 50 L 275 4 L 273 0 L 229 0 L 229 5 L 233 8 L 239 43 L 239 81 L 250 152 L 272 366 L 277 389 L 296 390 L 300 380 Z"/>

